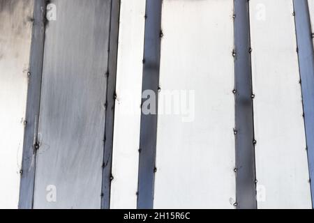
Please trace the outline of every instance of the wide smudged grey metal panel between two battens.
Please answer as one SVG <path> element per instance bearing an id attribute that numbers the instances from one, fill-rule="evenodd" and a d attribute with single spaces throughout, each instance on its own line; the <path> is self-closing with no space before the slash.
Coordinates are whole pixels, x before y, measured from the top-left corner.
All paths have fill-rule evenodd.
<path id="1" fill-rule="evenodd" d="M 111 1 L 51 3 L 33 207 L 100 208 Z"/>

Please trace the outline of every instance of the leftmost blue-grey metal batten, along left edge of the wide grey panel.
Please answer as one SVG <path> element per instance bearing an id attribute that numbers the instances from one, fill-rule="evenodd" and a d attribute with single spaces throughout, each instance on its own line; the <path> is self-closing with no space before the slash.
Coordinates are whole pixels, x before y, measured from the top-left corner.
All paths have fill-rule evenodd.
<path id="1" fill-rule="evenodd" d="M 43 74 L 43 52 L 45 43 L 45 12 L 46 1 L 35 0 L 33 10 L 29 87 L 27 93 L 27 127 L 24 133 L 22 173 L 20 181 L 20 209 L 33 208 L 40 89 Z"/>

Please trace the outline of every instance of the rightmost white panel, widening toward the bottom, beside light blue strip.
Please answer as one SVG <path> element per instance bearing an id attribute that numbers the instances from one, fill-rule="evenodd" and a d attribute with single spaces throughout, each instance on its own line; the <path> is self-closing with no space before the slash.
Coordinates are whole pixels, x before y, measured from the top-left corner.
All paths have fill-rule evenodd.
<path id="1" fill-rule="evenodd" d="M 252 0 L 258 208 L 311 208 L 292 0 Z"/>

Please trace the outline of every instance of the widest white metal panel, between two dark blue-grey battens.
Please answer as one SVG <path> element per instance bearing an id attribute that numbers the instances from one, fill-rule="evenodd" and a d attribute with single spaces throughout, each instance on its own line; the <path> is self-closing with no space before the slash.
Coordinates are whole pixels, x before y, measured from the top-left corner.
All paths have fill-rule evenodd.
<path id="1" fill-rule="evenodd" d="M 232 0 L 163 1 L 154 208 L 234 208 L 232 15 Z"/>

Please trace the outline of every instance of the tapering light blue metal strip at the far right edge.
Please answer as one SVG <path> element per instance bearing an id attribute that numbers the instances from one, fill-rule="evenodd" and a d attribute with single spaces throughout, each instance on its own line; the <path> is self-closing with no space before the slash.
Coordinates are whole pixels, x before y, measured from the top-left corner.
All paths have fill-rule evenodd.
<path id="1" fill-rule="evenodd" d="M 314 178 L 314 52 L 308 1 L 294 0 L 295 24 L 299 55 L 299 70 L 304 107 L 306 144 L 310 178 Z M 312 206 L 314 185 L 311 182 Z M 314 207 L 314 206 L 313 206 Z"/>

